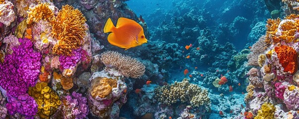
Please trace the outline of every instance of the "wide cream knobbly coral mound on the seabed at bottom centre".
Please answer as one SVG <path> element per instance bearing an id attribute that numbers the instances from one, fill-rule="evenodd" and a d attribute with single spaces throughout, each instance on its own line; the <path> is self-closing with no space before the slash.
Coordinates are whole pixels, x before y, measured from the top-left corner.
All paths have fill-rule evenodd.
<path id="1" fill-rule="evenodd" d="M 177 101 L 182 103 L 189 101 L 192 107 L 207 106 L 210 103 L 208 91 L 189 83 L 186 78 L 182 82 L 156 88 L 155 98 L 166 105 L 177 103 Z"/>

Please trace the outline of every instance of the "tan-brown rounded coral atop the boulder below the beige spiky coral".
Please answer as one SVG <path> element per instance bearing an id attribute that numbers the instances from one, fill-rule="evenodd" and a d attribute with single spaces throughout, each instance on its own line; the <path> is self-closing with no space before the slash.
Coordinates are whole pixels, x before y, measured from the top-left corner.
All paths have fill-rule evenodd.
<path id="1" fill-rule="evenodd" d="M 100 98 L 106 98 L 112 92 L 112 88 L 117 87 L 117 81 L 111 78 L 97 77 L 92 80 L 90 88 L 90 94 L 93 98 L 99 96 Z"/>

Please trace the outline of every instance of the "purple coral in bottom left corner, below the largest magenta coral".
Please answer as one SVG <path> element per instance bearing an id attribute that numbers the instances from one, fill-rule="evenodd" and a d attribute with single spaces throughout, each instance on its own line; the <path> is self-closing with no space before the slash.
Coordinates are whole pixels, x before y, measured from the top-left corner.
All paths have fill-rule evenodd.
<path id="1" fill-rule="evenodd" d="M 19 113 L 26 117 L 26 119 L 33 119 L 37 113 L 35 100 L 28 94 L 19 95 L 17 99 L 9 96 L 8 103 L 6 104 L 7 111 L 10 115 Z"/>

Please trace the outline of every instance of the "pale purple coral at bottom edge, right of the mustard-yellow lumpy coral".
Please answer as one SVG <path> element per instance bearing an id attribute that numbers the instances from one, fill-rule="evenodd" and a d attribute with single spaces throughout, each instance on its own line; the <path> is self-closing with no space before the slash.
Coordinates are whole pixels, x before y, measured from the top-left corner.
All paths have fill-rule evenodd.
<path id="1" fill-rule="evenodd" d="M 73 97 L 73 98 L 72 98 Z M 88 114 L 87 99 L 82 94 L 73 92 L 71 96 L 65 96 L 65 105 L 63 105 L 64 114 L 68 116 L 70 113 L 75 119 L 86 118 Z"/>

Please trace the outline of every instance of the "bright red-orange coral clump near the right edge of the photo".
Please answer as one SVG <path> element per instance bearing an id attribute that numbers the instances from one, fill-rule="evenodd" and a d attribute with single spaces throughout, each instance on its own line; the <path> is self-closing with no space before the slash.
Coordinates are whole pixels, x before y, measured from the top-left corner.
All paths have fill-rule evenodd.
<path id="1" fill-rule="evenodd" d="M 284 67 L 285 72 L 294 74 L 298 70 L 298 53 L 290 46 L 281 45 L 275 47 L 279 63 Z"/>

